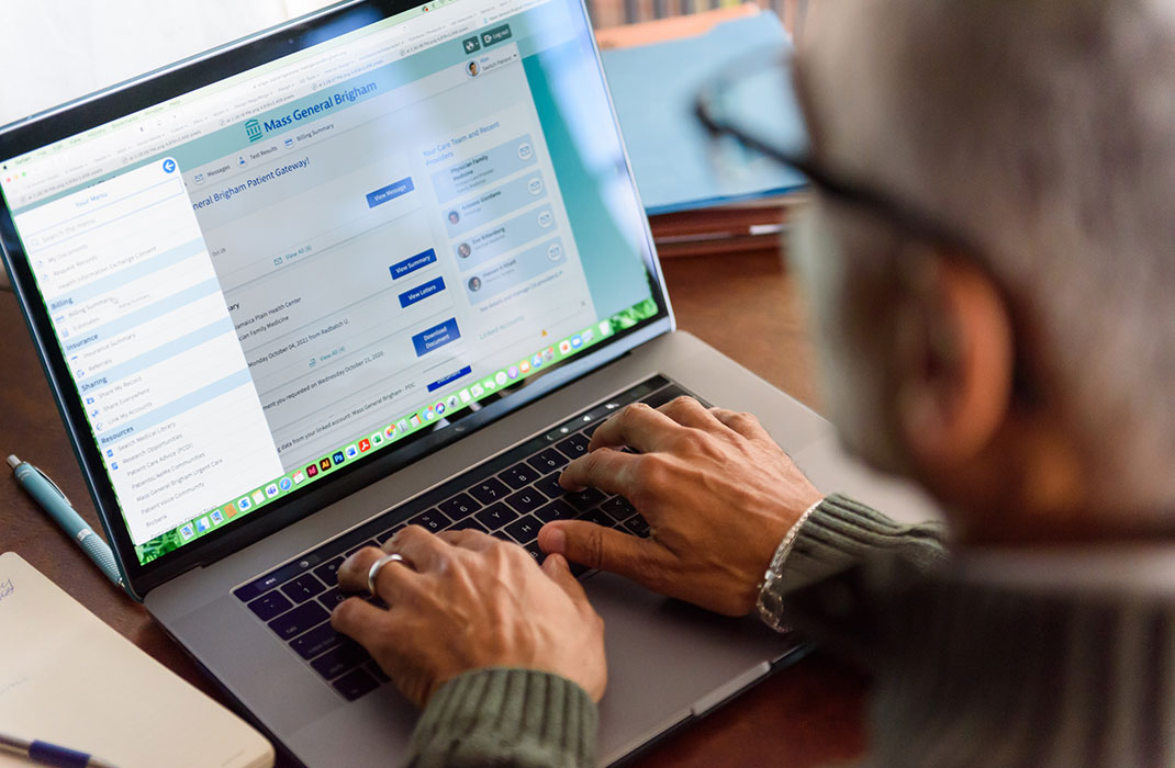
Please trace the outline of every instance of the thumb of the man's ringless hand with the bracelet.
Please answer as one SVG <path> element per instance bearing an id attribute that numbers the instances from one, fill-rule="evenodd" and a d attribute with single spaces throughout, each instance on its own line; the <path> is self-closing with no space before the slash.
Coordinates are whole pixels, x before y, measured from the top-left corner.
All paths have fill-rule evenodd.
<path id="1" fill-rule="evenodd" d="M 559 520 L 538 532 L 538 546 L 548 554 L 562 554 L 589 568 L 610 571 L 651 586 L 662 571 L 660 547 L 585 520 Z"/>

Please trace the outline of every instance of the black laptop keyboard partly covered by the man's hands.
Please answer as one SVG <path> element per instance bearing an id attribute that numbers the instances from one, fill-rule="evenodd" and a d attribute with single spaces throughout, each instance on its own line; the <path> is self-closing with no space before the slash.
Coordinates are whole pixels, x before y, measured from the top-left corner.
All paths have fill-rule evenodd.
<path id="1" fill-rule="evenodd" d="M 546 434 L 392 507 L 316 550 L 233 591 L 278 640 L 348 701 L 388 682 L 375 661 L 330 627 L 330 612 L 348 595 L 336 572 L 343 559 L 365 546 L 382 546 L 396 531 L 419 525 L 434 533 L 474 528 L 517 544 L 542 561 L 538 530 L 551 520 L 579 519 L 649 535 L 649 524 L 629 501 L 596 489 L 569 493 L 559 485 L 563 467 L 588 452 L 596 427 L 631 403 L 658 407 L 685 390 L 657 376 L 589 409 Z M 582 578 L 584 566 L 572 564 Z M 376 598 L 368 598 L 380 604 Z"/>

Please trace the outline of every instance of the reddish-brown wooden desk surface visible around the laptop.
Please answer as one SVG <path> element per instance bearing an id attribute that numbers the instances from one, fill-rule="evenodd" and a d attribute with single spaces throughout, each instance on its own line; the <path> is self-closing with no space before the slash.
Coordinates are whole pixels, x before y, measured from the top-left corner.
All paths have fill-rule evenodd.
<path id="1" fill-rule="evenodd" d="M 665 263 L 679 326 L 772 384 L 815 405 L 812 353 L 791 279 L 770 255 Z M 721 290 L 714 290 L 720 284 Z M 58 481 L 98 526 L 48 385 L 12 294 L 0 291 L 0 453 L 18 453 Z M 221 696 L 142 606 L 112 587 L 81 551 L 6 476 L 0 478 L 0 551 L 15 551 L 139 647 Z M 865 681 L 838 662 L 801 661 L 674 735 L 637 766 L 812 767 L 864 748 Z M 289 764 L 282 763 L 278 764 Z"/>

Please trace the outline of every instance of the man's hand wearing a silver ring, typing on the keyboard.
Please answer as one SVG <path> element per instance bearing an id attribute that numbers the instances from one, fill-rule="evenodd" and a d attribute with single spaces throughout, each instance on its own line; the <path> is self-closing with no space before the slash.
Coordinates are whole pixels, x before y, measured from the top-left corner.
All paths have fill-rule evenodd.
<path id="1" fill-rule="evenodd" d="M 376 592 L 389 606 L 349 598 L 334 627 L 354 638 L 396 686 L 423 707 L 450 678 L 484 667 L 551 672 L 604 695 L 604 621 L 563 558 L 539 567 L 522 547 L 476 531 L 434 535 L 410 526 L 392 537 Z M 347 591 L 367 591 L 384 551 L 367 547 L 338 568 Z"/>

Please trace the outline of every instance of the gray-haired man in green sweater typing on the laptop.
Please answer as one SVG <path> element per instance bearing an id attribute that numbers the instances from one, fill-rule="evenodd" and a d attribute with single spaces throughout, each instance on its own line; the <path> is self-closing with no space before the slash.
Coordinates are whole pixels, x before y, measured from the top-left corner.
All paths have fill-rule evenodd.
<path id="1" fill-rule="evenodd" d="M 563 484 L 627 496 L 650 539 L 555 523 L 538 567 L 408 528 L 391 612 L 336 611 L 425 706 L 415 764 L 591 761 L 603 631 L 566 560 L 855 654 L 875 764 L 1175 764 L 1175 6 L 822 11 L 811 162 L 900 201 L 815 180 L 798 225 L 827 403 L 941 501 L 954 558 L 825 497 L 747 415 L 630 407 Z"/>

